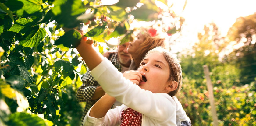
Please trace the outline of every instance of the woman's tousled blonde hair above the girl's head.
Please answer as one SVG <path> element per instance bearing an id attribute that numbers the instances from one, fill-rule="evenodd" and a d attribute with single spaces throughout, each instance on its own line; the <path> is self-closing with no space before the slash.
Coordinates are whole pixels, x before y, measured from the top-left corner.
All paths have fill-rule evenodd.
<path id="1" fill-rule="evenodd" d="M 165 38 L 161 38 L 160 36 L 151 37 L 148 33 L 148 29 L 140 29 L 140 33 L 143 35 L 144 40 L 140 44 L 140 48 L 136 51 L 137 57 L 133 57 L 142 61 L 145 54 L 154 47 L 164 47 L 165 46 Z M 138 67 L 139 64 L 136 64 Z"/>

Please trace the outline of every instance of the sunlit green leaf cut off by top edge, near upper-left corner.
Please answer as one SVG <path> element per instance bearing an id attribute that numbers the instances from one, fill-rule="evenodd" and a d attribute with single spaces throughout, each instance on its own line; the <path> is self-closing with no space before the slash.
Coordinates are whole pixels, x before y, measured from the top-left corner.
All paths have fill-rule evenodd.
<path id="1" fill-rule="evenodd" d="M 18 16 L 23 16 L 41 11 L 42 4 L 42 0 L 8 0 L 5 5 Z"/>

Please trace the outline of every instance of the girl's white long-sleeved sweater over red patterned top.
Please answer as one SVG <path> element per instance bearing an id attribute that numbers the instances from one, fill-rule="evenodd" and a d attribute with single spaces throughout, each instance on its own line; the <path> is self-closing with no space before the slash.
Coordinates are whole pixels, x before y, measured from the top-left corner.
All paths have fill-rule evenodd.
<path id="1" fill-rule="evenodd" d="M 176 103 L 168 94 L 141 89 L 126 80 L 107 58 L 91 71 L 91 75 L 108 95 L 125 105 L 108 110 L 100 119 L 90 117 L 89 110 L 84 126 L 120 125 L 121 112 L 128 107 L 142 114 L 142 126 L 176 126 Z"/>

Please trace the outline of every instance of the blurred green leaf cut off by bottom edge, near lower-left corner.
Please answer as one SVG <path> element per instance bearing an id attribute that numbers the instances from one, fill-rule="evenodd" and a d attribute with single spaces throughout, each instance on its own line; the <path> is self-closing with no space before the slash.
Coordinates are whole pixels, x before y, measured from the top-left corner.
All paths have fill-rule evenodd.
<path id="1" fill-rule="evenodd" d="M 9 116 L 7 125 L 10 126 L 46 126 L 44 120 L 36 114 L 30 115 L 25 112 L 13 113 Z"/>

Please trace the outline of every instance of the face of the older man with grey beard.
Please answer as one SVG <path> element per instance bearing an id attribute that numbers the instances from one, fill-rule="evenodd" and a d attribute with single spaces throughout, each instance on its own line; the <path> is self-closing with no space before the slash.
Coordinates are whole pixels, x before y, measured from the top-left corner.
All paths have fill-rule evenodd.
<path id="1" fill-rule="evenodd" d="M 127 51 L 128 46 L 129 42 L 118 46 L 118 60 L 123 66 L 129 67 L 132 56 Z"/>

